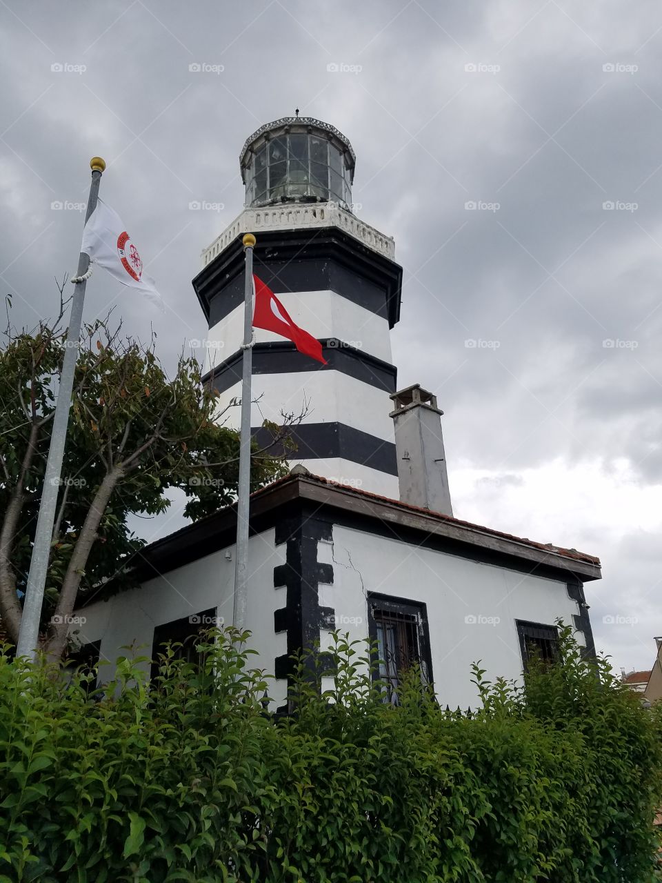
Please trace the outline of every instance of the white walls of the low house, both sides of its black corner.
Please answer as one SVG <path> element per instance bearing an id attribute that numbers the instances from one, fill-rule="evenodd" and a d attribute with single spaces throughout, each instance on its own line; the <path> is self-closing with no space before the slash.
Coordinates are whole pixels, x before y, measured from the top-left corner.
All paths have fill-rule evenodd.
<path id="1" fill-rule="evenodd" d="M 229 558 L 226 557 L 229 555 Z M 246 627 L 249 645 L 258 651 L 251 668 L 274 675 L 275 659 L 287 653 L 285 632 L 275 633 L 274 613 L 286 607 L 286 588 L 275 589 L 274 568 L 285 562 L 286 544 L 275 547 L 275 531 L 254 536 L 249 545 L 249 596 Z M 101 638 L 102 660 L 114 662 L 133 645 L 149 656 L 154 627 L 218 608 L 232 622 L 234 546 L 147 580 L 79 610 L 83 643 Z M 470 683 L 472 662 L 480 661 L 490 680 L 520 679 L 522 657 L 515 620 L 553 625 L 558 617 L 573 624 L 579 613 L 565 582 L 505 570 L 411 545 L 400 540 L 334 525 L 333 541 L 320 540 L 318 562 L 333 565 L 333 584 L 320 584 L 320 606 L 335 610 L 336 628 L 351 639 L 368 637 L 367 592 L 379 592 L 427 606 L 433 676 L 442 705 L 476 706 Z M 330 630 L 320 632 L 320 648 L 329 646 Z M 577 638 L 583 643 L 583 635 Z M 147 666 L 145 666 L 147 668 Z M 113 675 L 101 670 L 102 680 Z M 327 684 L 330 686 L 330 684 Z M 286 698 L 284 680 L 270 682 L 272 708 Z"/>

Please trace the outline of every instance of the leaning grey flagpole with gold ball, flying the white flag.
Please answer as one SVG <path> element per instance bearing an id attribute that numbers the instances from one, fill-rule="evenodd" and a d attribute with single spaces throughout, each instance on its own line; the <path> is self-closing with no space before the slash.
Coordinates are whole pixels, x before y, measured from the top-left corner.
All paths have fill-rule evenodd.
<path id="1" fill-rule="evenodd" d="M 87 200 L 85 223 L 87 223 L 87 219 L 96 208 L 96 202 L 99 198 L 99 184 L 103 171 L 106 168 L 106 163 L 103 162 L 101 156 L 94 156 L 90 160 L 90 168 L 92 169 L 92 183 L 90 185 L 89 199 Z M 86 274 L 89 266 L 89 255 L 81 252 L 78 273 L 75 277 L 73 297 L 71 298 L 71 314 L 66 343 L 64 344 L 64 360 L 62 374 L 60 374 L 59 389 L 57 391 L 56 411 L 50 435 L 49 458 L 46 462 L 46 473 L 44 475 L 39 504 L 39 516 L 37 517 L 37 528 L 34 535 L 32 557 L 30 559 L 30 572 L 27 577 L 26 600 L 20 621 L 19 644 L 16 648 L 17 657 L 26 656 L 30 660 L 34 660 L 39 643 L 41 607 L 49 570 L 50 544 L 53 537 L 57 495 L 62 475 L 64 442 L 66 441 L 69 410 L 71 408 L 71 391 L 73 389 L 74 374 L 76 373 L 76 363 L 79 357 L 80 328 L 83 321 L 83 302 L 85 300 L 85 287 L 87 283 Z M 74 280 L 72 279 L 71 282 L 74 282 Z"/>

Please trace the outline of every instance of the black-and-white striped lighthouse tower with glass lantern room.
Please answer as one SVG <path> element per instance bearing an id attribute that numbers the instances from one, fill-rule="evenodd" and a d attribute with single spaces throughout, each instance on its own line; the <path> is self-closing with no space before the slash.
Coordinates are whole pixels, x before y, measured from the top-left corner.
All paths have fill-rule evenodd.
<path id="1" fill-rule="evenodd" d="M 265 438 L 264 419 L 282 423 L 282 412 L 306 411 L 291 431 L 297 450 L 290 462 L 397 498 L 390 329 L 400 313 L 402 268 L 393 238 L 354 214 L 355 160 L 341 132 L 311 117 L 283 117 L 253 132 L 240 156 L 244 211 L 202 253 L 193 288 L 209 323 L 224 406 L 241 397 L 242 236 L 255 234 L 255 274 L 320 340 L 327 365 L 256 329 L 253 433 Z M 231 409 L 229 425 L 238 421 Z"/>

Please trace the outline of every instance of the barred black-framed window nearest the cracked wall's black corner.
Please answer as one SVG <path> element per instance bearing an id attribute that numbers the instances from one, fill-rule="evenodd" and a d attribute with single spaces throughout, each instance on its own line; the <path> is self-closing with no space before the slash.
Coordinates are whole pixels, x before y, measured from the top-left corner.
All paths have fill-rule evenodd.
<path id="1" fill-rule="evenodd" d="M 368 633 L 377 644 L 379 667 L 374 675 L 385 683 L 384 701 L 398 703 L 402 674 L 415 663 L 425 683 L 432 683 L 430 633 L 425 604 L 368 593 Z"/>

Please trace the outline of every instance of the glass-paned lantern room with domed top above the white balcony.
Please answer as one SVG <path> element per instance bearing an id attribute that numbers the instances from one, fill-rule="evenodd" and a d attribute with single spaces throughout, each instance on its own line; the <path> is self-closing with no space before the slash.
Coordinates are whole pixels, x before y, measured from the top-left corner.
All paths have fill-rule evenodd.
<path id="1" fill-rule="evenodd" d="M 351 211 L 356 155 L 335 126 L 313 117 L 261 125 L 239 155 L 246 208 L 336 202 Z"/>

